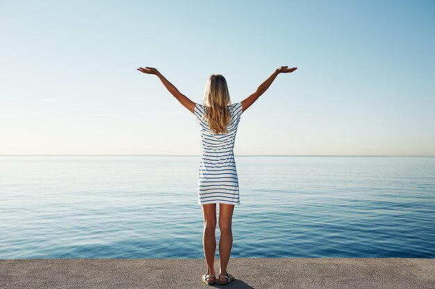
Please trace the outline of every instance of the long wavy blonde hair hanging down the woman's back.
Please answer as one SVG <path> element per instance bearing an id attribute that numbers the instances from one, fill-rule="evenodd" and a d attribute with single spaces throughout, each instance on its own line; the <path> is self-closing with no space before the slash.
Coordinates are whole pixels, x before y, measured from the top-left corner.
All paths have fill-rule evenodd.
<path id="1" fill-rule="evenodd" d="M 228 107 L 231 105 L 227 80 L 220 74 L 208 77 L 202 103 L 206 106 L 204 119 L 208 118 L 208 126 L 214 134 L 226 134 L 227 125 L 231 121 Z"/>

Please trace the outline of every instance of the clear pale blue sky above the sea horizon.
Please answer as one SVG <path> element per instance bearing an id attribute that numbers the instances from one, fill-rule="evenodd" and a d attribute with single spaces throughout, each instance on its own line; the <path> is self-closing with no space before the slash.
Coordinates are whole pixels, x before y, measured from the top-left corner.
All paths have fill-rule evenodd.
<path id="1" fill-rule="evenodd" d="M 236 155 L 435 155 L 434 1 L 0 1 L 0 154 L 200 155 L 220 73 Z"/>

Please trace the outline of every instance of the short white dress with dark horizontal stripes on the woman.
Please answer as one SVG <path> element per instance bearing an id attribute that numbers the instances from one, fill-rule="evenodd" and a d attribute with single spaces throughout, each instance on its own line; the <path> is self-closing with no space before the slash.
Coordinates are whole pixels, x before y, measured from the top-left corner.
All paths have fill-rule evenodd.
<path id="1" fill-rule="evenodd" d="M 202 119 L 205 105 L 195 103 L 195 116 L 201 128 L 202 157 L 199 166 L 198 204 L 240 204 L 238 175 L 234 159 L 234 142 L 242 103 L 229 105 L 231 121 L 226 134 L 214 134 L 208 119 Z"/>

